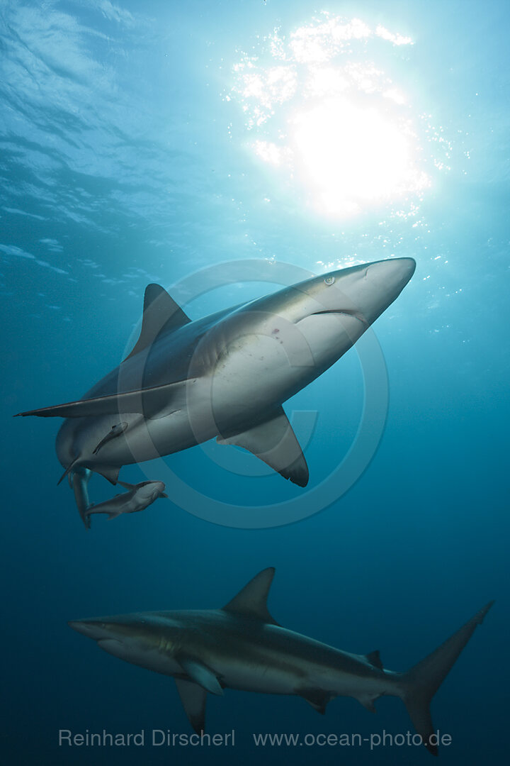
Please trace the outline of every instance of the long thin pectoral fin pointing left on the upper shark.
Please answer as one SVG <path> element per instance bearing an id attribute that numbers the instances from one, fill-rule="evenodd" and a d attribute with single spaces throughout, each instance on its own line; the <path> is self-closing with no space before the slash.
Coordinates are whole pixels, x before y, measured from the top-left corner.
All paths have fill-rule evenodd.
<path id="1" fill-rule="evenodd" d="M 163 411 L 170 413 L 171 399 L 184 390 L 187 383 L 194 383 L 196 378 L 167 383 L 165 385 L 140 388 L 138 391 L 108 394 L 93 399 L 70 401 L 41 410 L 20 412 L 15 417 L 36 415 L 37 417 L 98 417 L 99 415 L 142 414 L 145 417 L 158 417 Z M 171 411 L 175 411 L 173 408 Z"/>

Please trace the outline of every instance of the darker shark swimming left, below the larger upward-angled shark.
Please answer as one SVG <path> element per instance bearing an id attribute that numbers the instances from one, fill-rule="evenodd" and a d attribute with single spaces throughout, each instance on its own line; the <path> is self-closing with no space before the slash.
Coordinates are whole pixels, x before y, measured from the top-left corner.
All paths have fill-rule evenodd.
<path id="1" fill-rule="evenodd" d="M 255 576 L 222 609 L 164 611 L 74 620 L 73 630 L 126 662 L 173 676 L 184 710 L 203 732 L 207 692 L 223 689 L 303 697 L 318 712 L 337 696 L 374 711 L 383 695 L 402 699 L 432 755 L 430 700 L 493 602 L 404 673 L 386 670 L 378 651 L 343 652 L 278 625 L 267 607 L 274 568 Z"/>

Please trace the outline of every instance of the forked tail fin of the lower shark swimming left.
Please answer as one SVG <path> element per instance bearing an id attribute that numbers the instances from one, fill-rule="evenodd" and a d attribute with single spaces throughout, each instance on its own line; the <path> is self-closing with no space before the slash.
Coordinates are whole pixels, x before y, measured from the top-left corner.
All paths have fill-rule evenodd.
<path id="1" fill-rule="evenodd" d="M 437 742 L 430 741 L 430 735 L 434 734 L 430 700 L 450 673 L 457 657 L 473 635 L 476 626 L 482 623 L 492 604 L 494 601 L 490 601 L 424 660 L 414 665 L 407 673 L 402 673 L 401 699 L 408 710 L 414 728 L 421 735 L 425 747 L 432 755 L 437 755 Z"/>

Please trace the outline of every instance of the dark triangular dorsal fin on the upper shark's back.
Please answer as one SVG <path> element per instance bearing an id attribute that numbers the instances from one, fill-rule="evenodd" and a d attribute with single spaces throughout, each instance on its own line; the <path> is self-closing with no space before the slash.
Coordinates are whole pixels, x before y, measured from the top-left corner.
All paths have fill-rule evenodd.
<path id="1" fill-rule="evenodd" d="M 173 332 L 191 322 L 183 309 L 161 285 L 150 284 L 145 288 L 144 316 L 141 320 L 140 337 L 135 348 L 126 356 L 128 359 L 147 349 L 160 332 Z"/>

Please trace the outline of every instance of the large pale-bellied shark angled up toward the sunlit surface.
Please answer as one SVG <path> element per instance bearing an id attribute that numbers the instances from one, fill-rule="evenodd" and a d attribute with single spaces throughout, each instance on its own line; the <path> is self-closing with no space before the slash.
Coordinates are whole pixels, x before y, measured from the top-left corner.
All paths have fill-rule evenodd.
<path id="1" fill-rule="evenodd" d="M 65 417 L 57 455 L 83 517 L 90 472 L 217 437 L 306 486 L 308 467 L 282 404 L 333 365 L 411 279 L 412 258 L 331 271 L 192 322 L 156 284 L 140 337 L 80 401 L 22 412 Z"/>

